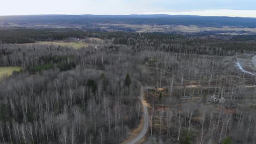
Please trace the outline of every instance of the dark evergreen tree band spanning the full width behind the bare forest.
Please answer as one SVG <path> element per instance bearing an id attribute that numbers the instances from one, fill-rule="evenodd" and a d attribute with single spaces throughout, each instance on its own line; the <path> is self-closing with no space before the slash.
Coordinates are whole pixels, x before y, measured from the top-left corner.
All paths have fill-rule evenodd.
<path id="1" fill-rule="evenodd" d="M 190 37 L 181 34 L 86 32 L 76 29 L 7 29 L 0 30 L 2 43 L 33 43 L 35 40 L 63 40 L 70 37 L 95 37 L 107 43 L 132 46 L 135 51 L 161 50 L 176 53 L 230 56 L 237 52 L 255 52 L 255 35 L 223 36 L 222 39 Z M 2 34 L 3 33 L 3 34 Z M 218 35 L 217 35 L 218 37 Z M 226 37 L 226 38 L 223 38 Z M 226 39 L 226 40 L 224 40 Z M 6 53 L 8 51 L 4 51 Z"/>

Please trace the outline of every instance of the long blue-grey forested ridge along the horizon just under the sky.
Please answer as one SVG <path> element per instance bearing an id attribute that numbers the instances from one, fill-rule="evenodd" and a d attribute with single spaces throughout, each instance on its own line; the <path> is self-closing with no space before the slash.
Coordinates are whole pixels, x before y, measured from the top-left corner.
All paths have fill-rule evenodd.
<path id="1" fill-rule="evenodd" d="M 203 27 L 256 27 L 256 18 L 191 15 L 25 15 L 0 16 L 0 22 L 49 25 L 84 25 L 88 23 L 127 23 L 131 25 L 196 25 Z"/>

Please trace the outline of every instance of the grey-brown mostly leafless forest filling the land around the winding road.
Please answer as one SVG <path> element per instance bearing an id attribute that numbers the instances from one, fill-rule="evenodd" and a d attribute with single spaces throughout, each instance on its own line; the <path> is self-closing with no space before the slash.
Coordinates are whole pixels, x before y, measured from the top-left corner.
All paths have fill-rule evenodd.
<path id="1" fill-rule="evenodd" d="M 255 35 L 0 31 L 0 67 L 21 68 L 0 80 L 0 143 L 126 143 L 143 105 L 140 143 L 256 141 Z M 34 43 L 73 37 L 104 42 Z"/>

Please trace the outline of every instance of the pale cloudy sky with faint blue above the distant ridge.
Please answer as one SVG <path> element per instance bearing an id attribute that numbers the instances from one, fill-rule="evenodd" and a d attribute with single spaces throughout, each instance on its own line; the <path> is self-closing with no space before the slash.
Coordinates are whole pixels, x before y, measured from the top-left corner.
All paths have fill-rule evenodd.
<path id="1" fill-rule="evenodd" d="M 0 0 L 0 15 L 170 14 L 256 17 L 255 0 Z"/>

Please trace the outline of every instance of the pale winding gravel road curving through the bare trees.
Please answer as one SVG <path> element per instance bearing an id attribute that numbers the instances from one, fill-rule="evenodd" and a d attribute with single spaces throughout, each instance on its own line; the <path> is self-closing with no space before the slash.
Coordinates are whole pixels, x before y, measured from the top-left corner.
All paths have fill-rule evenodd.
<path id="1" fill-rule="evenodd" d="M 147 88 L 146 88 L 147 89 Z M 137 143 L 139 140 L 141 140 L 147 133 L 148 130 L 148 124 L 149 124 L 149 119 L 148 119 L 148 108 L 147 105 L 145 105 L 144 103 L 144 88 L 143 86 L 141 86 L 141 103 L 143 105 L 143 117 L 144 117 L 144 121 L 143 121 L 143 128 L 141 133 L 139 133 L 137 135 L 137 137 L 129 142 L 127 142 L 126 144 L 135 144 Z"/>

